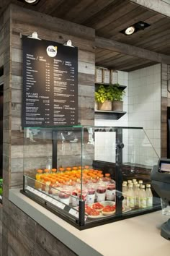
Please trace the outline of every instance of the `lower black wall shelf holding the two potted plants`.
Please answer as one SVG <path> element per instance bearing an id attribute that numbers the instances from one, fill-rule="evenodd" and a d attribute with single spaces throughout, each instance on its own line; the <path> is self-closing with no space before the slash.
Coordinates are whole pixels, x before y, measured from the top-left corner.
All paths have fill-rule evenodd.
<path id="1" fill-rule="evenodd" d="M 118 120 L 120 117 L 124 116 L 126 112 L 124 111 L 104 111 L 104 110 L 95 110 L 95 119 L 109 119 L 109 120 Z"/>

